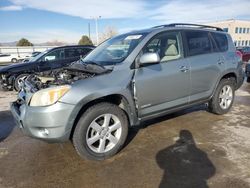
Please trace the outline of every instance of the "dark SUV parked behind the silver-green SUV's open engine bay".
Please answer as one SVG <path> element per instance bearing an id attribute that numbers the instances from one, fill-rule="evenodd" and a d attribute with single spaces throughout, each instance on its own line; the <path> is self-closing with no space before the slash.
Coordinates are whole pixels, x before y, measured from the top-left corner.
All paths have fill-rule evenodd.
<path id="1" fill-rule="evenodd" d="M 62 46 L 49 49 L 27 63 L 9 65 L 0 69 L 0 83 L 3 89 L 19 91 L 20 82 L 30 73 L 44 72 L 68 66 L 81 56 L 87 55 L 94 46 Z"/>

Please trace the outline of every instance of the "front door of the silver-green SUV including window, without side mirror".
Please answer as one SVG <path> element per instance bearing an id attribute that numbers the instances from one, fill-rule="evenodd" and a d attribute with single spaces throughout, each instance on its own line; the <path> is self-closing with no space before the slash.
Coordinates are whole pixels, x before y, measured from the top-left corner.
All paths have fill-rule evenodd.
<path id="1" fill-rule="evenodd" d="M 139 117 L 161 113 L 187 104 L 190 93 L 189 64 L 183 58 L 180 32 L 165 32 L 153 37 L 142 53 L 155 52 L 160 63 L 135 71 Z"/>

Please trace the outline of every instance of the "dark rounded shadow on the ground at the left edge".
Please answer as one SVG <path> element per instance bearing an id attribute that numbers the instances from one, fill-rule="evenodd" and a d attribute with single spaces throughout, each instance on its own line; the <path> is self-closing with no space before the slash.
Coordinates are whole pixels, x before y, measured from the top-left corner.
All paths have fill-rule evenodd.
<path id="1" fill-rule="evenodd" d="M 0 111 L 0 142 L 4 141 L 15 127 L 10 111 Z"/>

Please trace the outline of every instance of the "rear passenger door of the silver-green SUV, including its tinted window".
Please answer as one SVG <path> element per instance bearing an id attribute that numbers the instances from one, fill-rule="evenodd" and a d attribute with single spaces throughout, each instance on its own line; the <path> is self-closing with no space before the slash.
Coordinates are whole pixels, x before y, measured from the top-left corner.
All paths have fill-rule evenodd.
<path id="1" fill-rule="evenodd" d="M 225 70 L 225 59 L 208 31 L 185 31 L 184 38 L 191 67 L 190 102 L 207 99 Z"/>

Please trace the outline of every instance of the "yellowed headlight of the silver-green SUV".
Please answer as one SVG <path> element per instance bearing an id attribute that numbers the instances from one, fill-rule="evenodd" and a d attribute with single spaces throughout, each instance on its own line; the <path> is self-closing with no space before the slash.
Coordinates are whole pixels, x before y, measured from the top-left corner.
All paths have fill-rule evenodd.
<path id="1" fill-rule="evenodd" d="M 56 103 L 70 90 L 69 85 L 47 88 L 36 92 L 30 101 L 30 106 L 48 106 Z"/>

